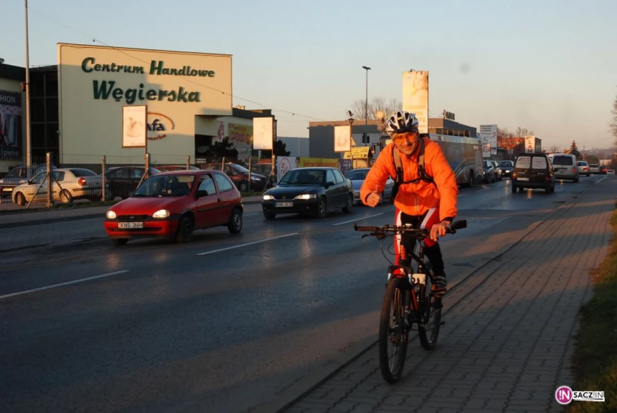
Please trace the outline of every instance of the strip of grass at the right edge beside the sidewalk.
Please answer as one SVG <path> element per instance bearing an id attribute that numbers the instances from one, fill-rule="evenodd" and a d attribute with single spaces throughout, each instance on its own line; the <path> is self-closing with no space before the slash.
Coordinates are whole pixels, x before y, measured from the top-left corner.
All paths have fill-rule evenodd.
<path id="1" fill-rule="evenodd" d="M 594 296 L 581 308 L 572 386 L 576 391 L 604 391 L 605 403 L 574 401 L 569 413 L 617 412 L 617 209 L 611 227 L 608 254 L 592 274 Z"/>

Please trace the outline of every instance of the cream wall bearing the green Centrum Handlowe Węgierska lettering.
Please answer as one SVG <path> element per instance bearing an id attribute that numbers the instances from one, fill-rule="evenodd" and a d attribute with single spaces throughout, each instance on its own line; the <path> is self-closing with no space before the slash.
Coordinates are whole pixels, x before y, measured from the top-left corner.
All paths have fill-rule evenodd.
<path id="1" fill-rule="evenodd" d="M 231 115 L 229 55 L 60 43 L 58 67 L 65 162 L 103 154 L 108 162 L 143 159 L 144 149 L 122 148 L 123 106 L 147 104 L 147 123 L 158 129 L 148 131 L 153 158 L 194 159 L 195 135 L 211 133 L 214 118 Z"/>

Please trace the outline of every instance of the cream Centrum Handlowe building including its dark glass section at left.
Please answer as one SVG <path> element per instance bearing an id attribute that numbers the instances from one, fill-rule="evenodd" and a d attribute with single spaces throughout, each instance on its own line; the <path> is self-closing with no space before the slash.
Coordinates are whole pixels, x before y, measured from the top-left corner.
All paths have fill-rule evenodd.
<path id="1" fill-rule="evenodd" d="M 59 164 L 100 162 L 102 155 L 108 164 L 143 162 L 143 148 L 122 147 L 123 106 L 139 105 L 147 105 L 144 127 L 153 161 L 184 163 L 190 156 L 196 162 L 225 136 L 238 149 L 238 161 L 246 161 L 252 153 L 253 119 L 274 116 L 232 107 L 231 59 L 226 54 L 58 44 L 57 65 L 30 69 L 32 163 L 43 161 L 46 152 L 53 152 Z M 14 115 L 22 122 L 20 128 L 7 129 L 11 138 L 2 135 L 0 173 L 25 162 L 24 81 L 23 67 L 0 64 L 0 113 L 11 115 L 10 125 Z M 2 99 L 13 102 L 10 109 Z"/>

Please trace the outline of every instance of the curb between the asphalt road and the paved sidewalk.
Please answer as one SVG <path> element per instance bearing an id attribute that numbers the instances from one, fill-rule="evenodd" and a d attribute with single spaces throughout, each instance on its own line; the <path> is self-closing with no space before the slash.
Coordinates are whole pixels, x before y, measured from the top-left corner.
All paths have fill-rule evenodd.
<path id="1" fill-rule="evenodd" d="M 530 227 L 529 230 L 525 232 L 523 236 L 521 236 L 518 240 L 511 243 L 510 246 L 505 248 L 503 251 L 500 251 L 499 254 L 496 254 L 494 257 L 491 257 L 486 262 L 479 265 L 477 268 L 474 268 L 473 270 L 471 270 L 471 272 L 465 275 L 465 277 L 461 278 L 456 283 L 453 283 L 452 286 L 449 288 L 448 292 L 452 293 L 452 290 L 456 286 L 460 285 L 462 282 L 464 282 L 469 277 L 474 275 L 474 273 L 484 268 L 486 265 L 489 264 L 489 262 L 492 262 L 495 259 L 499 259 L 499 257 L 503 256 L 503 254 L 506 254 L 508 251 L 514 248 L 518 243 L 524 240 L 526 236 L 528 236 L 531 232 L 536 230 L 537 227 L 539 227 L 542 223 L 546 222 L 551 217 L 553 217 L 553 215 L 557 214 L 557 212 L 561 211 L 561 209 L 564 209 L 569 206 L 573 206 L 573 204 L 576 204 L 577 202 L 581 201 L 582 196 L 587 191 L 589 191 L 594 185 L 595 185 L 595 182 L 592 183 L 592 185 L 587 186 L 587 188 L 584 188 L 584 190 L 582 190 L 581 192 L 577 193 L 575 196 L 573 196 L 573 198 L 569 199 L 569 201 L 567 201 L 565 204 L 561 204 L 560 206 L 555 208 L 555 210 L 551 212 L 549 215 L 547 215 L 544 219 L 540 220 L 539 222 L 534 222 L 531 225 L 529 225 Z M 373 348 L 376 344 L 378 344 L 378 342 L 379 342 L 378 338 L 375 338 L 375 337 L 370 337 L 370 338 L 366 338 L 365 340 L 359 341 L 358 343 L 354 344 L 349 349 L 349 351 L 346 352 L 347 353 L 346 355 L 337 357 L 337 359 L 334 359 L 330 365 L 325 366 L 325 367 L 320 367 L 316 369 L 314 372 L 309 373 L 309 375 L 307 375 L 306 377 L 300 378 L 296 383 L 290 386 L 289 390 L 284 391 L 283 394 L 275 396 L 275 398 L 272 401 L 266 401 L 266 402 L 259 404 L 258 406 L 252 407 L 251 409 L 248 410 L 248 412 L 250 413 L 283 413 L 284 411 L 286 411 L 286 409 L 293 406 L 298 401 L 300 401 L 305 396 L 307 396 L 309 393 L 311 393 L 313 390 L 323 385 L 323 383 L 327 382 L 330 378 L 334 377 L 334 375 L 339 373 L 342 369 L 352 364 L 352 362 L 358 359 L 358 357 L 362 356 L 362 354 L 365 354 L 367 351 L 370 351 L 370 349 Z"/>

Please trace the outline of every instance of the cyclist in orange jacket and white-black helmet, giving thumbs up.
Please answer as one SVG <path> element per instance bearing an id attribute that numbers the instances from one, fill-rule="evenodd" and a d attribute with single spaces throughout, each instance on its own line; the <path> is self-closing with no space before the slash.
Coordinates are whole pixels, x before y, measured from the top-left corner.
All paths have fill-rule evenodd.
<path id="1" fill-rule="evenodd" d="M 447 228 L 457 215 L 457 181 L 441 147 L 428 136 L 418 133 L 415 114 L 398 111 L 387 120 L 386 130 L 392 143 L 379 153 L 360 188 L 360 199 L 370 207 L 381 201 L 387 178 L 397 177 L 395 153 L 399 151 L 403 176 L 400 186 L 393 191 L 395 225 L 410 223 L 415 228 L 430 228 L 430 237 L 424 239 L 424 255 L 431 262 L 435 275 L 433 293 L 445 293 L 444 260 L 438 237 L 445 236 Z M 420 141 L 422 140 L 422 141 Z M 424 147 L 424 172 L 421 173 L 421 145 Z M 431 182 L 432 181 L 432 182 Z M 400 235 L 395 238 L 395 264 L 399 264 Z"/>

